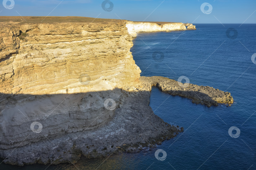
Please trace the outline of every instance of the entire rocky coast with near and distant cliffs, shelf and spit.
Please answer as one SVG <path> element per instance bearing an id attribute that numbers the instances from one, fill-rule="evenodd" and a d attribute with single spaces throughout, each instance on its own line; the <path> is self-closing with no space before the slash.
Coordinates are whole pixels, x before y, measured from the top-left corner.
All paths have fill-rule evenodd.
<path id="1" fill-rule="evenodd" d="M 70 163 L 154 147 L 183 127 L 156 116 L 151 86 L 207 106 L 230 93 L 140 77 L 130 48 L 137 32 L 192 24 L 86 17 L 1 17 L 0 157 L 4 163 Z M 41 22 L 43 20 L 43 22 Z M 186 27 L 187 26 L 187 27 Z"/>

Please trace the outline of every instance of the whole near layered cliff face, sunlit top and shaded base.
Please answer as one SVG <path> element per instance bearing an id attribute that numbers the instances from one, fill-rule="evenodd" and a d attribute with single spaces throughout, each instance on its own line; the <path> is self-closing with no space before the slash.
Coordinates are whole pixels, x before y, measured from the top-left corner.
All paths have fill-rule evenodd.
<path id="1" fill-rule="evenodd" d="M 3 22 L 0 29 L 1 149 L 105 124 L 115 110 L 104 101 L 118 107 L 122 87 L 140 76 L 125 21 Z M 34 121 L 44 134 L 31 133 Z"/>

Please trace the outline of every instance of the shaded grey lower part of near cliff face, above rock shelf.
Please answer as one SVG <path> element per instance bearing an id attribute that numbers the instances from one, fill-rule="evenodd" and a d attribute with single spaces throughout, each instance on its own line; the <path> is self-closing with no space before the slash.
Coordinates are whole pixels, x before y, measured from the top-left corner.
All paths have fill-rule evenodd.
<path id="1" fill-rule="evenodd" d="M 121 89 L 76 94 L 3 94 L 0 149 L 106 124 L 121 106 Z"/>

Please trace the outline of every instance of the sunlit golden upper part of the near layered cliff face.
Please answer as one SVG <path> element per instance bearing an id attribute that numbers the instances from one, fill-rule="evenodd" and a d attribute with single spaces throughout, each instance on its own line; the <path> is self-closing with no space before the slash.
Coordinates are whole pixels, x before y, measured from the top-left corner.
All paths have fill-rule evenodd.
<path id="1" fill-rule="evenodd" d="M 140 69 L 124 25 L 1 24 L 0 92 L 81 93 L 99 83 L 136 81 Z"/>

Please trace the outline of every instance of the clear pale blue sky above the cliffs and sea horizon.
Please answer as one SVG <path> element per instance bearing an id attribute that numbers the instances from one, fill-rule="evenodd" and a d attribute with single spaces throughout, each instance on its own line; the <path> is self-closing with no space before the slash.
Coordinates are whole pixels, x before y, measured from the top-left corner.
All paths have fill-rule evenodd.
<path id="1" fill-rule="evenodd" d="M 8 0 L 4 0 L 8 1 Z M 103 10 L 103 0 L 9 0 L 0 3 L 1 16 L 85 16 L 132 21 L 189 23 L 256 23 L 256 0 L 111 0 L 113 10 Z M 2 2 L 2 0 L 1 0 Z M 212 6 L 209 14 L 200 7 Z M 106 8 L 109 7 L 109 3 Z M 209 10 L 209 5 L 203 8 Z"/>

